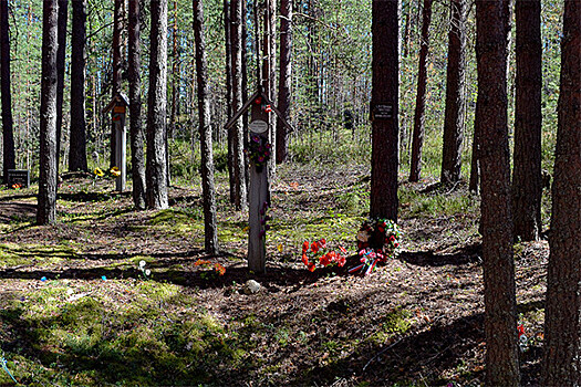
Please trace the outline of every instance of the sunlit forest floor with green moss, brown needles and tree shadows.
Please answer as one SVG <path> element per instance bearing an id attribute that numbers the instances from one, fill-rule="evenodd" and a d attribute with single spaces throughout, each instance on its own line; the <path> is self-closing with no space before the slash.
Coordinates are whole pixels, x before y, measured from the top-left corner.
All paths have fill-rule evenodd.
<path id="1" fill-rule="evenodd" d="M 481 385 L 478 198 L 402 184 L 400 254 L 352 275 L 369 176 L 279 167 L 262 275 L 247 270 L 247 215 L 224 176 L 219 257 L 203 252 L 197 185 L 135 211 L 111 180 L 64 180 L 53 227 L 34 226 L 34 187 L 0 191 L 0 386 Z M 344 268 L 307 270 L 301 245 L 320 238 L 353 254 Z M 515 245 L 523 386 L 538 385 L 547 258 L 546 241 Z"/>

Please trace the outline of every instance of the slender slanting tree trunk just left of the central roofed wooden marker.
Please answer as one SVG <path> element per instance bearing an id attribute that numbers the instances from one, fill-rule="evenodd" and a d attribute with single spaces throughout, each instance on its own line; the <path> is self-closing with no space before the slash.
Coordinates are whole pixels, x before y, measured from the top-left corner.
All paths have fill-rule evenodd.
<path id="1" fill-rule="evenodd" d="M 218 254 L 218 226 L 216 220 L 216 188 L 214 186 L 214 155 L 211 148 L 210 98 L 206 42 L 204 39 L 204 7 L 194 0 L 194 35 L 196 40 L 196 73 L 198 80 L 198 116 L 201 154 L 201 191 L 204 198 L 205 251 Z"/>

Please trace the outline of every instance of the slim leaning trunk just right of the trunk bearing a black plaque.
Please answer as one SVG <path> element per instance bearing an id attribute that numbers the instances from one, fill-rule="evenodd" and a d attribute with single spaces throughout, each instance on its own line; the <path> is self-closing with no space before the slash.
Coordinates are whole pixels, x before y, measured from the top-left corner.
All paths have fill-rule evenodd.
<path id="1" fill-rule="evenodd" d="M 422 172 L 422 147 L 424 145 L 424 123 L 426 118 L 427 51 L 429 48 L 430 20 L 432 0 L 424 0 L 421 38 L 422 46 L 419 49 L 416 109 L 414 115 L 414 137 L 412 142 L 412 164 L 409 166 L 409 181 L 412 182 L 418 181 Z"/>

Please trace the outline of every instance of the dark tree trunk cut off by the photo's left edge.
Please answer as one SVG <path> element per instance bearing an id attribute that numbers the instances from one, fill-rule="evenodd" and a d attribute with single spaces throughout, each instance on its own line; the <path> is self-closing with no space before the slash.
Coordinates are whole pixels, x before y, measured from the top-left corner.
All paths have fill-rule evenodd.
<path id="1" fill-rule="evenodd" d="M 2 160 L 3 182 L 8 182 L 8 170 L 15 168 L 14 130 L 12 122 L 12 94 L 10 91 L 10 21 L 8 1 L 0 1 L 0 87 L 2 93 Z"/>

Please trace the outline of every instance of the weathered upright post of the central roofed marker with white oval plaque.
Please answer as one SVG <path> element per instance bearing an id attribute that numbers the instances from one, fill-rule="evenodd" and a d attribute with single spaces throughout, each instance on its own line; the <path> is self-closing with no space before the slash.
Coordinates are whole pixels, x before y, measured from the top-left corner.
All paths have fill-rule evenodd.
<path id="1" fill-rule="evenodd" d="M 269 112 L 264 108 L 266 102 L 261 96 L 252 101 L 251 123 L 249 125 L 249 148 L 255 144 L 268 144 L 269 139 Z M 258 143 L 257 142 L 260 142 Z M 250 156 L 250 155 L 249 155 Z M 269 163 L 257 163 L 250 158 L 250 191 L 248 198 L 248 268 L 255 273 L 264 273 L 267 266 L 267 216 L 270 206 L 270 192 L 268 181 Z"/>

